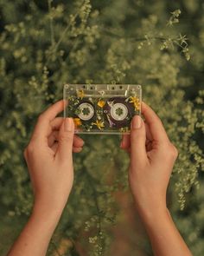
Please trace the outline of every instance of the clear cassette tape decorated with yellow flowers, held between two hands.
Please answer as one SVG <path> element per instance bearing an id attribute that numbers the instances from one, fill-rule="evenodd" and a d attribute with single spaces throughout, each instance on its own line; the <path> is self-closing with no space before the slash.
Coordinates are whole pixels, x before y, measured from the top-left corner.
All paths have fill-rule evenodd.
<path id="1" fill-rule="evenodd" d="M 76 134 L 129 134 L 141 115 L 142 88 L 135 84 L 66 84 L 64 117 Z"/>

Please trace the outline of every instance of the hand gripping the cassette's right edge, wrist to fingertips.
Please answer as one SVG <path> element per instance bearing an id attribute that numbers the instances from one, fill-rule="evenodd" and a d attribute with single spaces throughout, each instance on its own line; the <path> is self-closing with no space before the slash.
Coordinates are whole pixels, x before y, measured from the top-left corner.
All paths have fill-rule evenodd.
<path id="1" fill-rule="evenodd" d="M 162 121 L 144 102 L 142 114 L 131 122 L 131 135 L 124 135 L 121 148 L 130 153 L 129 181 L 141 215 L 166 209 L 166 191 L 178 152 L 169 141 Z"/>

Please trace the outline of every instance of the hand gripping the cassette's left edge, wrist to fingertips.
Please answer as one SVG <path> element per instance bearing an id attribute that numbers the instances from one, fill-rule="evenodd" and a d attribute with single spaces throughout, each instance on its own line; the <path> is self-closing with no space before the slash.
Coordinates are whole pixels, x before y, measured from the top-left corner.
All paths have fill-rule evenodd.
<path id="1" fill-rule="evenodd" d="M 84 141 L 74 135 L 72 118 L 55 117 L 63 110 L 63 100 L 42 113 L 24 150 L 35 195 L 35 206 L 48 212 L 61 210 L 73 186 L 73 152 Z"/>

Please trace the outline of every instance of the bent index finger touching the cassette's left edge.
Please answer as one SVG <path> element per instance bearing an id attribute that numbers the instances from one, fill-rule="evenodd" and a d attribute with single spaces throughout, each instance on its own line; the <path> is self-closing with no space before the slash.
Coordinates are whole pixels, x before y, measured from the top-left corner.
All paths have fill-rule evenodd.
<path id="1" fill-rule="evenodd" d="M 52 132 L 52 126 L 50 122 L 54 120 L 56 115 L 61 113 L 64 109 L 64 104 L 66 104 L 63 100 L 59 102 L 55 102 L 52 106 L 50 106 L 47 110 L 45 110 L 38 118 L 38 121 L 35 125 L 34 133 L 32 139 L 35 137 L 48 137 Z"/>

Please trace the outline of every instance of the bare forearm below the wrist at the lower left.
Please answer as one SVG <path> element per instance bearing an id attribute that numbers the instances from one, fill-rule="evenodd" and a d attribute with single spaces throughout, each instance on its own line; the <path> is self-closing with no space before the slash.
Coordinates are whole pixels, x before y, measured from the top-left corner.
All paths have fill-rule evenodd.
<path id="1" fill-rule="evenodd" d="M 44 256 L 54 229 L 61 218 L 61 210 L 48 211 L 46 206 L 34 207 L 27 225 L 10 249 L 8 256 Z"/>

